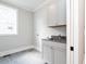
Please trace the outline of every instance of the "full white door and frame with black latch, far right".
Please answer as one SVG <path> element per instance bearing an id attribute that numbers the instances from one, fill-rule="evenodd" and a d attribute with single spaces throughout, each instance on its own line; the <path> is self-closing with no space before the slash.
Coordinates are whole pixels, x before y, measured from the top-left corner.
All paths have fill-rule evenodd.
<path id="1" fill-rule="evenodd" d="M 66 0 L 66 62 L 67 64 L 83 64 L 84 60 L 84 23 L 85 0 Z M 71 47 L 74 51 L 71 51 Z"/>

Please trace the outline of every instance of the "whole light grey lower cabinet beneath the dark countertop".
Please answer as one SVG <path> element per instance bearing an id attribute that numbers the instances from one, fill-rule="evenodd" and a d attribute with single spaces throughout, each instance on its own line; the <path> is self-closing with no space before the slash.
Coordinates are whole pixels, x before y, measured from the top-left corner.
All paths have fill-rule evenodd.
<path id="1" fill-rule="evenodd" d="M 66 50 L 56 46 L 44 44 L 42 56 L 45 64 L 66 64 Z"/>

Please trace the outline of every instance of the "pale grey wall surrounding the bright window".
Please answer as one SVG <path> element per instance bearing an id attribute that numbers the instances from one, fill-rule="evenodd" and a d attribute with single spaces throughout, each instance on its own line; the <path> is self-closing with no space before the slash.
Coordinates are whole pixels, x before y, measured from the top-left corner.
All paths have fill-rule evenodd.
<path id="1" fill-rule="evenodd" d="M 33 46 L 33 13 L 17 9 L 17 35 L 0 36 L 0 52 Z"/>

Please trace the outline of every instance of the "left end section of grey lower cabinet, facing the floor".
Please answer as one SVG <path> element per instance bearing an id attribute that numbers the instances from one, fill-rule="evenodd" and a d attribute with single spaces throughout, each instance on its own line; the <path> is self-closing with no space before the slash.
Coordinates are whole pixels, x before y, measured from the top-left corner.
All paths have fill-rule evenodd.
<path id="1" fill-rule="evenodd" d="M 53 64 L 53 50 L 51 47 L 44 46 L 44 60 L 48 64 Z"/>

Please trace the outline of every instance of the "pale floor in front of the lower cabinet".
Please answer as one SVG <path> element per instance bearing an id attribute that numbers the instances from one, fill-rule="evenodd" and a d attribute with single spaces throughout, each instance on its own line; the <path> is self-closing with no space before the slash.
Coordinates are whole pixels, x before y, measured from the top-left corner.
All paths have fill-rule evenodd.
<path id="1" fill-rule="evenodd" d="M 45 64 L 41 53 L 36 50 L 14 53 L 7 57 L 0 57 L 0 64 Z"/>

